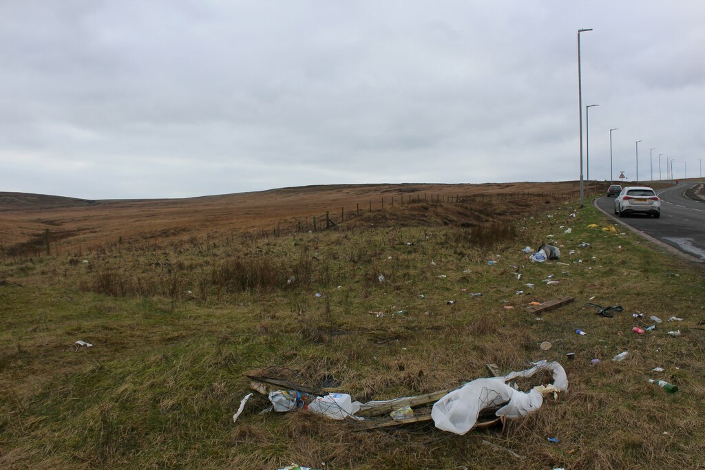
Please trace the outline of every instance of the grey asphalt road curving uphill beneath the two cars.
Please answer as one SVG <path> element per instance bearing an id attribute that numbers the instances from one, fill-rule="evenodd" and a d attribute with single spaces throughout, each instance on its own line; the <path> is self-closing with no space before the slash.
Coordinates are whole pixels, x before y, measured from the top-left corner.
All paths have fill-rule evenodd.
<path id="1" fill-rule="evenodd" d="M 657 191 L 661 197 L 661 218 L 635 214 L 619 220 L 681 252 L 705 261 L 705 202 L 688 199 L 683 194 L 696 184 L 679 183 Z M 597 205 L 610 215 L 614 214 L 614 204 L 613 197 L 597 199 Z"/>

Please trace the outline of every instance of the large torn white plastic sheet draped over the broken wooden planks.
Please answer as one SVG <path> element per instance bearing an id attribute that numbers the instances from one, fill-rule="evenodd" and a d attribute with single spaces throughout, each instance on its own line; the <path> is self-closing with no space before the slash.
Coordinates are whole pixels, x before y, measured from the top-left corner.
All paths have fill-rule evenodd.
<path id="1" fill-rule="evenodd" d="M 511 372 L 504 377 L 478 378 L 448 393 L 441 400 L 434 403 L 431 418 L 436 428 L 455 434 L 465 434 L 477 423 L 477 417 L 483 409 L 496 407 L 509 401 L 504 407 L 497 410 L 496 416 L 518 418 L 536 411 L 544 402 L 541 390 L 522 392 L 507 385 L 516 377 L 530 377 L 537 371 L 548 370 L 553 373 L 553 389 L 567 390 L 568 377 L 565 370 L 558 362 L 539 361 L 534 367 L 525 371 Z"/>

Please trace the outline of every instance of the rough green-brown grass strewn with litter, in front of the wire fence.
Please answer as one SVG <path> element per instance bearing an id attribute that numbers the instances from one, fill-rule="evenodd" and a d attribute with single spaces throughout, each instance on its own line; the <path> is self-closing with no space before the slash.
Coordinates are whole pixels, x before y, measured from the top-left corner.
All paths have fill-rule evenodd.
<path id="1" fill-rule="evenodd" d="M 631 233 L 588 229 L 606 223 L 591 208 L 572 218 L 572 204 L 546 206 L 465 227 L 209 237 L 106 249 L 88 263 L 6 259 L 0 467 L 699 468 L 702 271 Z M 572 227 L 552 239 L 566 264 L 530 264 L 521 249 L 562 234 L 560 225 Z M 548 276 L 559 283 L 542 283 Z M 576 301 L 540 320 L 525 312 L 532 300 L 563 296 Z M 596 316 L 590 297 L 625 311 Z M 652 314 L 664 320 L 656 330 L 631 331 Z M 75 351 L 79 339 L 94 347 Z M 625 350 L 629 359 L 611 361 Z M 263 413 L 262 395 L 231 420 L 250 392 L 244 373 L 365 401 L 454 388 L 487 376 L 488 362 L 511 371 L 539 359 L 563 364 L 569 390 L 503 433 L 458 436 L 428 423 L 360 432 L 303 410 Z M 666 394 L 646 383 L 652 376 L 680 391 Z M 559 443 L 546 440 L 554 436 Z"/>

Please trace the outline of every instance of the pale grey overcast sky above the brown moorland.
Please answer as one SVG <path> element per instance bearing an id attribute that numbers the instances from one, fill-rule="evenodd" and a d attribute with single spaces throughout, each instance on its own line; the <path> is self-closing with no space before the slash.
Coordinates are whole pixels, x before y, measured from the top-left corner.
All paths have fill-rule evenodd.
<path id="1" fill-rule="evenodd" d="M 0 18 L 0 191 L 577 179 L 580 28 L 591 178 L 610 128 L 615 178 L 637 140 L 642 180 L 652 147 L 655 179 L 658 154 L 664 178 L 705 159 L 701 0 L 3 0 Z"/>

